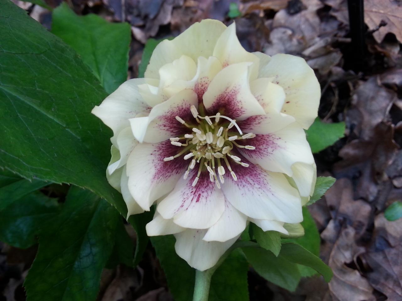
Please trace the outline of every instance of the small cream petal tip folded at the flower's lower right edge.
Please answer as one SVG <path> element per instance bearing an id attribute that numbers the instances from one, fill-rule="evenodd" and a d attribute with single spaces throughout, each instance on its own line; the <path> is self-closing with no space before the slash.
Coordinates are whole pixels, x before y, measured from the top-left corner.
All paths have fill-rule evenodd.
<path id="1" fill-rule="evenodd" d="M 297 162 L 292 165 L 293 180 L 302 197 L 313 195 L 317 179 L 316 164 Z"/>

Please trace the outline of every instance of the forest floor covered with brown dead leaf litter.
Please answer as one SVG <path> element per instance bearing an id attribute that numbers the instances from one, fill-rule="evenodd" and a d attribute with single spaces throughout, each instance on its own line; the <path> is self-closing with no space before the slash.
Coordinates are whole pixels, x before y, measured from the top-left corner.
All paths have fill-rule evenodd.
<path id="1" fill-rule="evenodd" d="M 14 2 L 50 28 L 48 10 Z M 56 7 L 60 0 L 45 2 Z M 318 175 L 337 181 L 325 197 L 309 206 L 322 239 L 321 258 L 334 277 L 329 285 L 320 277 L 304 279 L 295 293 L 289 293 L 250 270 L 250 300 L 402 300 L 402 218 L 389 222 L 384 217 L 391 203 L 402 200 L 402 1 L 364 1 L 367 26 L 361 49 L 351 43 L 346 0 L 68 2 L 78 14 L 92 12 L 131 24 L 129 78 L 138 75 L 148 38 L 176 36 L 204 18 L 230 24 L 231 2 L 240 10 L 232 13 L 240 14 L 236 28 L 246 50 L 306 59 L 322 88 L 319 117 L 346 123 L 345 137 L 315 155 Z M 131 234 L 134 239 L 135 233 Z M 0 286 L 6 285 L 0 300 L 25 300 L 21 284 L 35 252 L 35 247 L 3 247 L 0 268 L 8 276 L 0 278 Z M 21 272 L 20 280 L 11 279 L 12 273 Z M 166 288 L 149 245 L 135 270 L 124 266 L 105 270 L 98 300 L 172 300 Z"/>

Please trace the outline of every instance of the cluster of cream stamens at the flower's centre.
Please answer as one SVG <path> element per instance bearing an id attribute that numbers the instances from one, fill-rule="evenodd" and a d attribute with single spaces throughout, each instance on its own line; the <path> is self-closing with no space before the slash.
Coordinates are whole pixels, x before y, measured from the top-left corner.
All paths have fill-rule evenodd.
<path id="1" fill-rule="evenodd" d="M 163 160 L 170 161 L 185 153 L 187 153 L 184 156 L 185 160 L 193 158 L 184 174 L 184 179 L 187 179 L 190 169 L 194 169 L 195 165 L 199 163 L 197 177 L 195 177 L 192 184 L 193 187 L 197 185 L 201 171 L 205 168 L 209 172 L 211 182 L 215 182 L 216 186 L 221 188 L 220 183 L 224 183 L 223 176 L 226 173 L 224 165 L 228 168 L 234 181 L 237 181 L 237 176 L 232 170 L 232 167 L 230 167 L 230 161 L 240 164 L 243 167 L 248 167 L 249 165 L 242 162 L 239 157 L 232 155 L 231 151 L 234 146 L 254 150 L 254 146 L 240 145 L 236 140 L 254 138 L 255 134 L 243 134 L 236 120 L 219 113 L 214 116 L 200 116 L 195 106 L 191 106 L 190 110 L 197 121 L 195 126 L 188 124 L 185 120 L 180 118 L 180 116 L 176 116 L 176 120 L 188 128 L 191 128 L 191 134 L 170 138 L 171 144 L 183 147 L 183 150 L 177 155 L 166 157 Z M 215 122 L 212 122 L 213 118 Z M 238 134 L 231 132 L 230 129 L 232 128 L 236 128 Z"/>

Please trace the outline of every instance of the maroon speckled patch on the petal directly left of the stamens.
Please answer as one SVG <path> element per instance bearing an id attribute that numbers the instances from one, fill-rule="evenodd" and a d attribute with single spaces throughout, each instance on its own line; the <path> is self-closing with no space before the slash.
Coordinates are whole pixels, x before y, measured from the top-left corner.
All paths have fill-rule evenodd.
<path id="1" fill-rule="evenodd" d="M 166 181 L 172 175 L 184 174 L 189 162 L 183 156 L 177 157 L 172 161 L 163 161 L 166 157 L 171 157 L 180 152 L 182 148 L 170 144 L 170 140 L 160 142 L 151 153 L 152 164 L 155 167 L 153 180 L 157 183 Z"/>

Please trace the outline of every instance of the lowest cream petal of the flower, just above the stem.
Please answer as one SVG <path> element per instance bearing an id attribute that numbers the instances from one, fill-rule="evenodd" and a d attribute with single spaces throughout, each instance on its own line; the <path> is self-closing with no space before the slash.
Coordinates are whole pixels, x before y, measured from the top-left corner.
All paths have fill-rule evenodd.
<path id="1" fill-rule="evenodd" d="M 207 230 L 187 229 L 174 234 L 177 255 L 186 260 L 189 266 L 201 271 L 213 267 L 238 238 L 226 242 L 206 242 L 202 239 L 206 232 Z"/>

